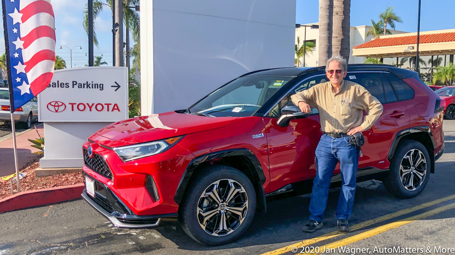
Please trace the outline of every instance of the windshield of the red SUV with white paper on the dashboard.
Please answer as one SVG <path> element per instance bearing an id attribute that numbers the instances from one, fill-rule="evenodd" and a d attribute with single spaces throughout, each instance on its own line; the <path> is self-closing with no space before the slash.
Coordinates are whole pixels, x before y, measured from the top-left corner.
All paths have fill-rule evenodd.
<path id="1" fill-rule="evenodd" d="M 252 116 L 292 78 L 273 75 L 240 77 L 218 88 L 188 110 L 191 114 L 205 113 L 212 117 Z"/>

